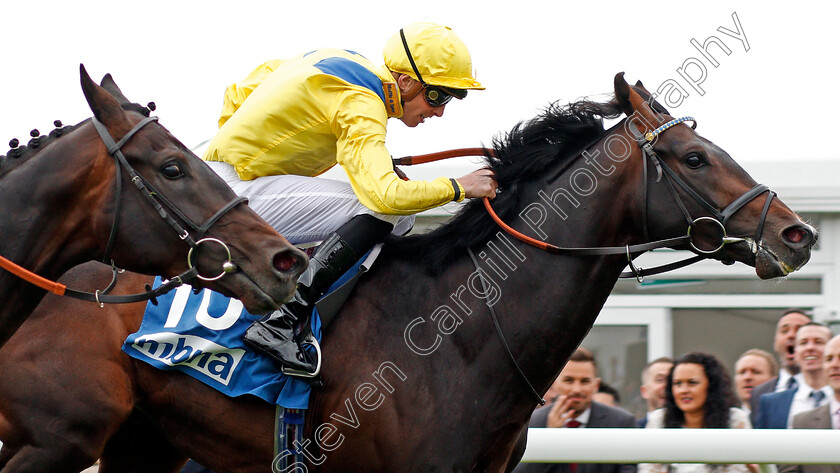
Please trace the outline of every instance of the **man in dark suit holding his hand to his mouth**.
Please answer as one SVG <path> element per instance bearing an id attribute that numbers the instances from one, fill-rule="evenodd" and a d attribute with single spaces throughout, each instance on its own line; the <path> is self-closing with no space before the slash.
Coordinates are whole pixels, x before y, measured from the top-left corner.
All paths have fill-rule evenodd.
<path id="1" fill-rule="evenodd" d="M 557 399 L 534 411 L 529 427 L 635 427 L 633 414 L 592 401 L 600 379 L 592 353 L 578 348 L 554 385 Z M 636 473 L 636 465 L 601 463 L 520 463 L 514 473 Z"/>

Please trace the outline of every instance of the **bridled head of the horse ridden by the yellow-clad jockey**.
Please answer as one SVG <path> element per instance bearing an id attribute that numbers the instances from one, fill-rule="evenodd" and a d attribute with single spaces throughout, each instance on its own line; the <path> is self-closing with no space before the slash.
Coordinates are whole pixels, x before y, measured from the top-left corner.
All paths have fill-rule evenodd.
<path id="1" fill-rule="evenodd" d="M 641 197 L 645 209 L 637 213 L 643 233 L 667 238 L 674 228 L 687 228 L 687 249 L 754 266 L 762 279 L 786 276 L 808 262 L 817 240 L 812 226 L 684 123 L 692 118 L 672 117 L 641 82 L 630 87 L 623 73 L 614 83 L 627 115 L 624 137 L 649 171 L 642 177 L 649 189 Z M 655 221 L 647 218 L 654 213 Z"/>

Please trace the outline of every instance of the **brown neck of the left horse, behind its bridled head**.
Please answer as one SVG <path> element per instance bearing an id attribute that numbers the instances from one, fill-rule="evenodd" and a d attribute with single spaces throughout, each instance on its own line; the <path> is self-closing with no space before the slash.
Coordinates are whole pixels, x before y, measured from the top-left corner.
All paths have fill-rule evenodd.
<path id="1" fill-rule="evenodd" d="M 94 214 L 111 181 L 100 177 L 108 172 L 107 153 L 87 128 L 52 141 L 0 178 L 0 201 L 14 215 L 0 221 L 0 255 L 46 278 L 97 249 Z M 0 287 L 9 294 L 23 286 L 3 272 Z"/>

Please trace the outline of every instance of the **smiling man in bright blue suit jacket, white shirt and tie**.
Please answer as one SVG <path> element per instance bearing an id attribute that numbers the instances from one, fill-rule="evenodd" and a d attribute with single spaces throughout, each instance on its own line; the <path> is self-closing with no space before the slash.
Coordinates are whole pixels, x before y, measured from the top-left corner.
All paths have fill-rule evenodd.
<path id="1" fill-rule="evenodd" d="M 793 356 L 801 369 L 803 382 L 796 389 L 761 396 L 757 429 L 790 428 L 796 414 L 828 403 L 833 393 L 826 384 L 822 359 L 829 339 L 831 330 L 825 325 L 810 322 L 799 328 Z"/>

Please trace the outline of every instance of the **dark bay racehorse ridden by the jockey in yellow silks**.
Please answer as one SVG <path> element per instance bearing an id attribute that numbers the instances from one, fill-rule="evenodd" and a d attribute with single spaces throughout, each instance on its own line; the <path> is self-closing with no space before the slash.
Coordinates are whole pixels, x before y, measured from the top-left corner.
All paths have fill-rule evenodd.
<path id="1" fill-rule="evenodd" d="M 702 235 L 679 248 L 761 278 L 808 261 L 814 228 L 686 120 L 648 104 L 641 83 L 618 74 L 614 86 L 611 102 L 553 105 L 495 140 L 487 162 L 502 192 L 489 204 L 520 233 L 627 254 L 543 251 L 502 232 L 481 202 L 390 240 L 324 334 L 307 462 L 285 471 L 510 471 L 535 393 L 591 329 L 637 245 L 696 227 Z M 620 113 L 629 118 L 605 130 L 603 117 Z M 731 237 L 699 231 L 704 218 Z M 64 277 L 108 279 L 95 263 Z M 125 275 L 115 291 L 149 280 Z M 101 473 L 170 473 L 188 457 L 219 473 L 269 471 L 274 406 L 123 354 L 142 317 L 143 304 L 91 310 L 52 296 L 33 313 L 0 350 L 0 472 L 77 472 L 101 458 Z"/>

